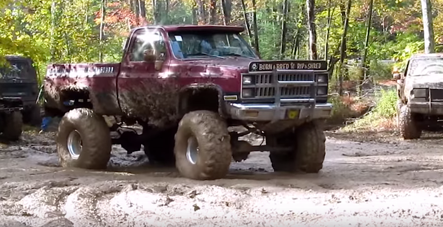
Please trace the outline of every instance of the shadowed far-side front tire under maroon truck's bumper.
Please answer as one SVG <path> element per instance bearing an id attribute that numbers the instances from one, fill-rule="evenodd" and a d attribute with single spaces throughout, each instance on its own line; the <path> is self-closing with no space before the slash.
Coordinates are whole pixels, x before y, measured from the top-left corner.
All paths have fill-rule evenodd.
<path id="1" fill-rule="evenodd" d="M 306 173 L 317 173 L 323 168 L 326 137 L 318 123 L 306 123 L 294 132 L 277 138 L 276 141 L 280 142 L 280 139 L 283 139 L 281 141 L 283 143 L 274 145 L 295 145 L 295 149 L 287 154 L 271 152 L 269 158 L 274 171 L 296 172 L 300 170 Z"/>

